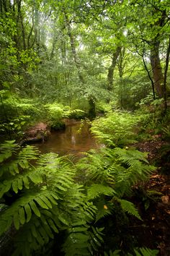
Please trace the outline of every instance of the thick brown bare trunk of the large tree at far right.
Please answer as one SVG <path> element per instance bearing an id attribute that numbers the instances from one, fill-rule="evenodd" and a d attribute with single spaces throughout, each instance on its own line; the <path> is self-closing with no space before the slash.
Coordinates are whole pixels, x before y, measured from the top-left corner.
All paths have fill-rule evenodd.
<path id="1" fill-rule="evenodd" d="M 151 60 L 151 67 L 153 72 L 153 81 L 154 81 L 156 91 L 158 93 L 158 97 L 163 98 L 164 77 L 161 69 L 161 61 L 159 59 L 159 45 L 160 45 L 160 42 L 156 42 L 152 44 L 150 60 Z"/>

